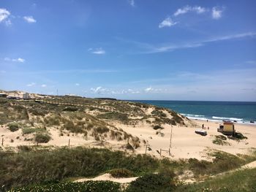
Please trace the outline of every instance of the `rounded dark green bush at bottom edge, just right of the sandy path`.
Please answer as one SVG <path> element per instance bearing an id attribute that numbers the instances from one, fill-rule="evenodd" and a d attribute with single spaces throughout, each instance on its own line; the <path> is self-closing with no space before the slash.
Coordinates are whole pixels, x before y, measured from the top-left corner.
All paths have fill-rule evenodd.
<path id="1" fill-rule="evenodd" d="M 155 192 L 155 191 L 173 191 L 176 183 L 173 177 L 165 174 L 146 174 L 132 181 L 127 192 Z"/>

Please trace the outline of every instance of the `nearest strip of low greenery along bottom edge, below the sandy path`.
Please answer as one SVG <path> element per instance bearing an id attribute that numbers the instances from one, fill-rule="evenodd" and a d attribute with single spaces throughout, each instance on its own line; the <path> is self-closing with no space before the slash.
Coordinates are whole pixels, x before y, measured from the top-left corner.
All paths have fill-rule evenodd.
<path id="1" fill-rule="evenodd" d="M 168 177 L 170 176 L 170 177 Z M 13 188 L 10 192 L 45 192 L 45 191 L 111 191 L 111 192 L 154 192 L 154 191 L 175 191 L 175 192 L 196 192 L 196 191 L 217 191 L 217 192 L 241 192 L 256 191 L 256 169 L 245 169 L 232 172 L 219 177 L 205 180 L 202 183 L 183 185 L 173 180 L 173 175 L 146 174 L 133 181 L 127 188 L 121 188 L 119 183 L 110 181 L 87 181 L 84 183 L 57 183 L 48 185 L 34 185 L 23 188 Z"/>

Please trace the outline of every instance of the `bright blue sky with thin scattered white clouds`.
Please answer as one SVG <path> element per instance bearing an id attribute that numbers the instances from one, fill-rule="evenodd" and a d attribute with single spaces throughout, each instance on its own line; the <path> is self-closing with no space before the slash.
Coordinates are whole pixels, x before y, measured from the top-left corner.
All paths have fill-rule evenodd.
<path id="1" fill-rule="evenodd" d="M 0 89 L 256 101 L 256 1 L 0 1 Z"/>

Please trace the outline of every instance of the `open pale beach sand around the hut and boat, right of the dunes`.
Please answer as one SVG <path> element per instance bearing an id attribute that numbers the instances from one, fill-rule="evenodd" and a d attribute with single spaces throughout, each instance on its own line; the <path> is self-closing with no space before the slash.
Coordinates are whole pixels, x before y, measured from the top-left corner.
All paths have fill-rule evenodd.
<path id="1" fill-rule="evenodd" d="M 230 145 L 216 145 L 212 141 L 215 135 L 221 135 L 217 132 L 219 124 L 222 122 L 206 121 L 206 120 L 193 120 L 197 123 L 198 127 L 185 127 L 185 126 L 165 126 L 161 132 L 165 134 L 163 137 L 156 134 L 152 128 L 128 128 L 123 126 L 124 131 L 132 133 L 140 139 L 148 141 L 151 151 L 149 154 L 159 156 L 157 150 L 160 148 L 168 150 L 170 147 L 170 131 L 173 129 L 172 142 L 170 147 L 171 158 L 197 158 L 208 159 L 207 153 L 211 150 L 222 150 L 234 155 L 241 153 L 250 153 L 250 150 L 256 147 L 256 126 L 246 124 L 235 124 L 236 131 L 241 132 L 248 139 L 243 139 L 240 142 L 232 139 L 227 139 Z M 207 136 L 195 134 L 195 130 L 200 129 L 202 124 L 206 126 Z M 209 129 L 207 129 L 209 127 Z M 140 147 L 140 153 L 145 153 L 145 147 Z M 167 152 L 162 153 L 163 156 L 168 157 Z"/>

